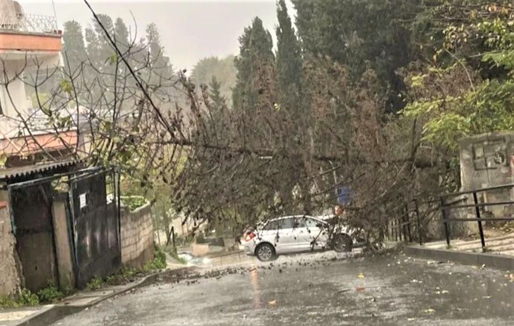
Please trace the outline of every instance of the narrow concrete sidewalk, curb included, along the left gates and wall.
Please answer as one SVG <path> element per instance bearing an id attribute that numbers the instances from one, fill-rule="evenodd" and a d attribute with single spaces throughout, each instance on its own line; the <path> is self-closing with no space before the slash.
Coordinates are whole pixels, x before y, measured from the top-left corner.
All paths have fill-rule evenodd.
<path id="1" fill-rule="evenodd" d="M 173 265 L 172 269 L 151 274 L 123 285 L 106 286 L 95 291 L 81 291 L 66 297 L 57 304 L 0 310 L 0 326 L 47 325 L 67 315 L 87 310 L 91 306 L 120 294 L 132 292 L 139 287 L 152 284 L 162 276 L 189 272 L 194 267 Z"/>

